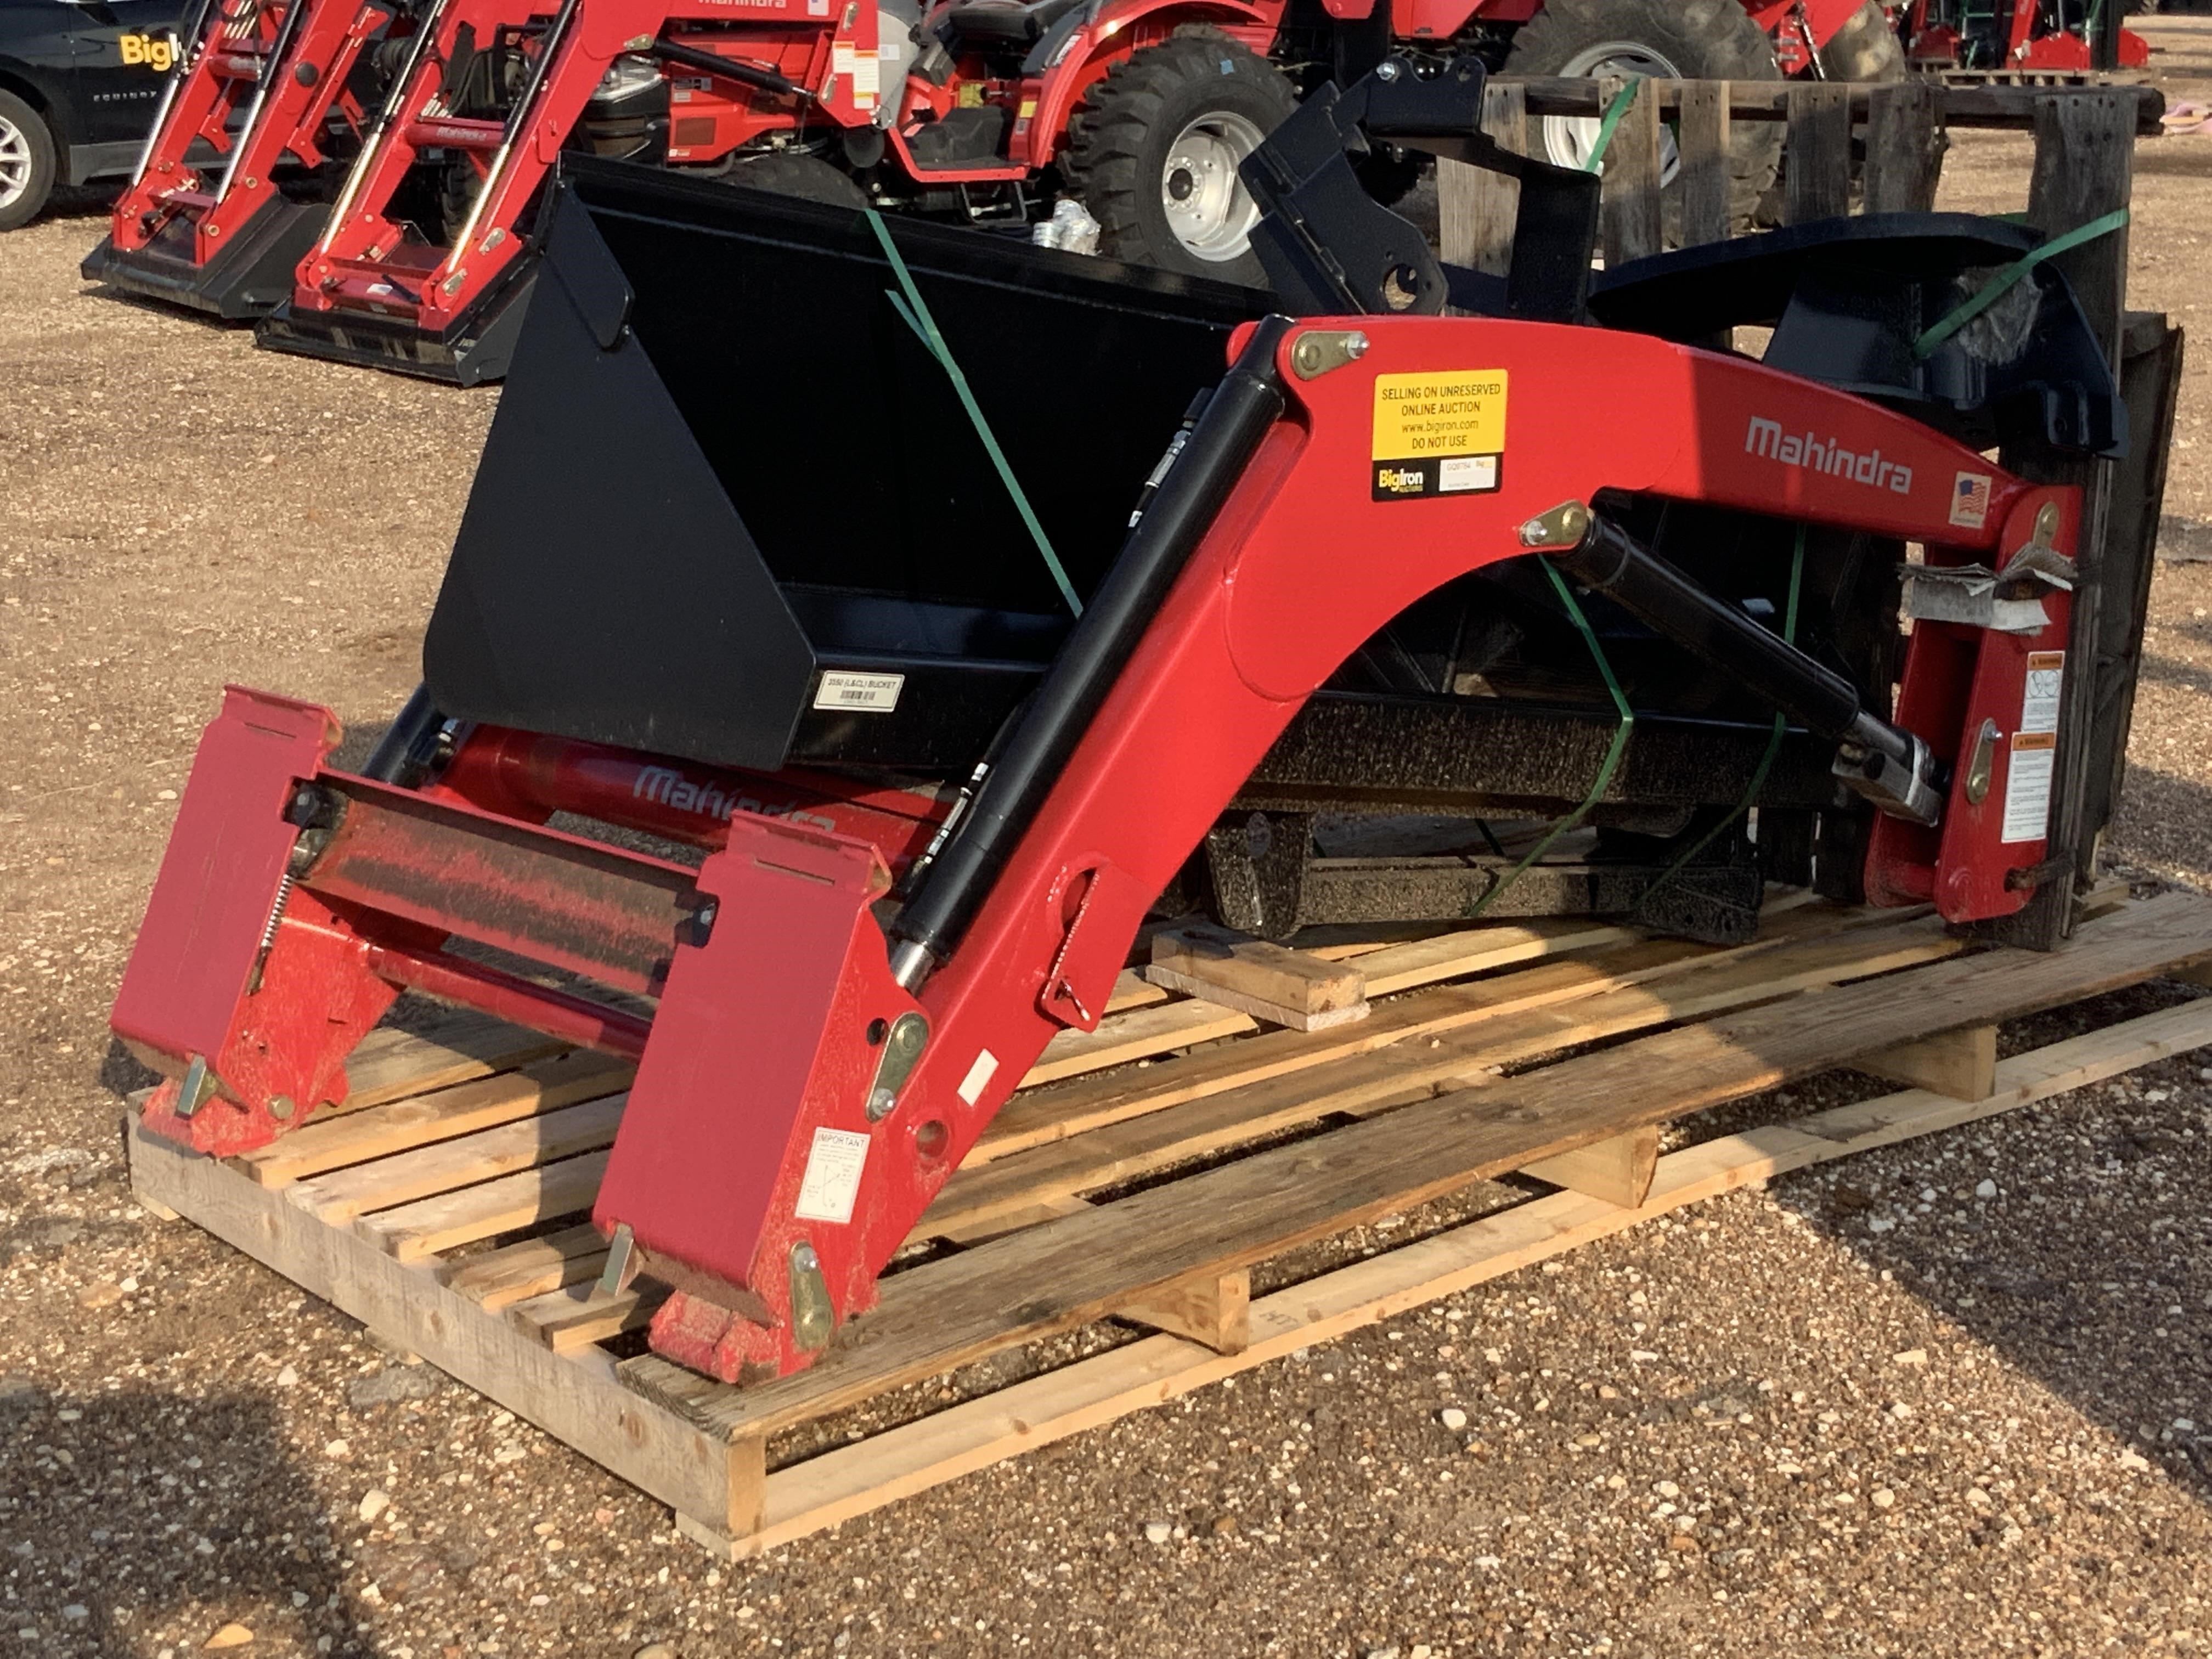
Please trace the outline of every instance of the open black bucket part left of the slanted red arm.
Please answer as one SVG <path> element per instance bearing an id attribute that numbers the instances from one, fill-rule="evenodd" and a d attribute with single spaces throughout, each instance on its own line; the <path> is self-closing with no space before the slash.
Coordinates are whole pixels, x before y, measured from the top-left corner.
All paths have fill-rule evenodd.
<path id="1" fill-rule="evenodd" d="M 429 688 L 471 719 L 761 770 L 971 768 L 1075 619 L 1040 542 L 1088 597 L 1265 310 L 619 164 L 571 166 L 551 217 Z"/>

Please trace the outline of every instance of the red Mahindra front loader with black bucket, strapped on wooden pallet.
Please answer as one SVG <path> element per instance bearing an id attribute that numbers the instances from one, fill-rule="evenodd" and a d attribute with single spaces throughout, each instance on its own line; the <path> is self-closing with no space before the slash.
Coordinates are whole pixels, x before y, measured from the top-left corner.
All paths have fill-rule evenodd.
<path id="1" fill-rule="evenodd" d="M 1590 290 L 1595 181 L 1464 137 L 1427 142 L 1515 170 L 1522 232 L 1506 279 L 1440 268 L 1352 164 L 1469 133 L 1480 84 L 1321 88 L 1250 159 L 1296 316 L 573 168 L 425 690 L 361 770 L 330 710 L 265 692 L 201 741 L 115 1004 L 166 1073 L 146 1126 L 283 1135 L 403 993 L 628 1055 L 608 1279 L 661 1281 L 653 1345 L 741 1380 L 865 1314 L 1225 825 L 1582 801 L 1650 894 L 1756 796 L 1763 838 L 1812 823 L 1876 902 L 1989 927 L 2070 891 L 2081 498 L 1982 453 L 2126 442 L 2070 292 L 2039 268 L 2031 330 L 1900 367 L 1882 330 L 1918 338 L 2024 232 L 1783 232 Z M 1783 361 L 1838 307 L 1869 349 L 1829 385 L 1593 325 L 1670 281 Z M 763 420 L 732 383 L 790 396 Z M 1900 639 L 1907 542 L 1916 586 L 1986 566 L 2024 611 L 1907 597 Z M 1750 858 L 1710 891 L 1756 914 Z"/>

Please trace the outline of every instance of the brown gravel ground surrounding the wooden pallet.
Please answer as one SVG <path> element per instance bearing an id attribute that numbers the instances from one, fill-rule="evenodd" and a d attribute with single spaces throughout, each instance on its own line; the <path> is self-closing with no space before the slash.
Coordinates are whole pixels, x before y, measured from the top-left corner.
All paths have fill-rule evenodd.
<path id="1" fill-rule="evenodd" d="M 2212 20 L 2148 29 L 2201 95 Z M 2017 206 L 2026 155 L 1962 137 L 1947 206 Z M 2208 179 L 2212 139 L 2141 150 L 2135 296 L 2183 321 Z M 88 299 L 97 234 L 0 237 L 0 1652 L 2212 1652 L 2194 1062 L 1734 1194 L 743 1566 L 153 1221 L 104 1013 L 181 763 L 223 679 L 398 703 L 493 396 Z M 2205 374 L 2112 836 L 2199 885 Z"/>

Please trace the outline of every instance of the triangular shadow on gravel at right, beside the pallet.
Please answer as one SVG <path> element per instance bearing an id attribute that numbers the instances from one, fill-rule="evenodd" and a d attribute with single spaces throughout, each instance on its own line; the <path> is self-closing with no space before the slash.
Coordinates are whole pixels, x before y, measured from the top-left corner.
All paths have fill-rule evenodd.
<path id="1" fill-rule="evenodd" d="M 2192 995 L 2152 980 L 2011 1024 L 2002 1053 Z M 2108 1429 L 2115 1458 L 2212 1506 L 2208 1055 L 1820 1166 L 1774 1197 Z M 2002 1422 L 1989 1433 L 2000 1444 Z"/>

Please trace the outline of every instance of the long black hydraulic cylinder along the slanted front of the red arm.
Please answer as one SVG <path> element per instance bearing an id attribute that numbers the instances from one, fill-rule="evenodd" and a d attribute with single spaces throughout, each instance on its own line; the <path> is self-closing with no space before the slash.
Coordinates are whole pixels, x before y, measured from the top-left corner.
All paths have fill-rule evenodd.
<path id="1" fill-rule="evenodd" d="M 942 962 L 960 942 L 1168 588 L 1190 564 L 1259 440 L 1283 414 L 1274 356 L 1290 330 L 1287 316 L 1267 316 L 1252 330 L 1190 440 L 1159 480 L 1159 493 L 1024 706 L 964 823 L 891 922 L 891 936 L 902 945 L 894 969 L 909 989 L 927 971 L 918 951 Z"/>

